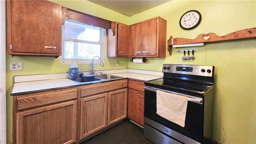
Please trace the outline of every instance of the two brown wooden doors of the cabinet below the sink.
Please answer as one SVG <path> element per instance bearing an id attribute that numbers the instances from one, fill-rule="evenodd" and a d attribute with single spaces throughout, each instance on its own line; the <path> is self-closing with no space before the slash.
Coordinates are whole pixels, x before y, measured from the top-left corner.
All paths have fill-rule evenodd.
<path id="1" fill-rule="evenodd" d="M 126 118 L 127 88 L 81 99 L 80 139 Z"/>

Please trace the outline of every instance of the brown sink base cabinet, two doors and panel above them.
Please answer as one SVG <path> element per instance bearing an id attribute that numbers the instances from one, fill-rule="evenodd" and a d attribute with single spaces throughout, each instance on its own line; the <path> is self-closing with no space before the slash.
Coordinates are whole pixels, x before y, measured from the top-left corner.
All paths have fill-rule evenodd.
<path id="1" fill-rule="evenodd" d="M 82 86 L 80 140 L 126 118 L 127 80 Z"/>

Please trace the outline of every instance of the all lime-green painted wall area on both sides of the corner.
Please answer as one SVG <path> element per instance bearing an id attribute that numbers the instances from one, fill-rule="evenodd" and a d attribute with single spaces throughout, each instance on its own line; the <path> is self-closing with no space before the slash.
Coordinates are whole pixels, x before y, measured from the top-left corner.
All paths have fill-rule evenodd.
<path id="1" fill-rule="evenodd" d="M 52 0 L 53 1 L 53 0 Z M 167 40 L 173 38 L 194 39 L 199 34 L 210 32 L 223 36 L 231 32 L 256 27 L 255 0 L 172 0 L 135 16 L 127 17 L 112 10 L 84 0 L 53 1 L 73 10 L 124 24 L 134 24 L 160 16 L 167 20 Z M 182 14 L 188 10 L 198 10 L 202 21 L 192 30 L 179 26 Z M 166 40 L 166 41 L 167 41 Z M 176 50 L 192 50 L 195 60 L 181 59 Z M 166 58 L 147 58 L 145 64 L 136 64 L 129 58 L 105 58 L 104 67 L 95 70 L 132 68 L 162 71 L 162 64 L 198 64 L 215 66 L 213 139 L 223 144 L 256 143 L 256 39 L 214 42 L 192 48 L 173 48 L 172 56 L 166 50 Z M 115 62 L 120 62 L 116 67 Z M 59 65 L 59 59 L 48 57 L 13 57 L 7 55 L 7 142 L 12 142 L 12 97 L 10 90 L 13 76 L 30 74 L 52 74 L 68 72 L 69 66 Z M 23 62 L 22 71 L 9 71 L 10 62 Z M 90 65 L 78 65 L 90 70 Z M 226 136 L 221 132 L 223 127 Z"/>

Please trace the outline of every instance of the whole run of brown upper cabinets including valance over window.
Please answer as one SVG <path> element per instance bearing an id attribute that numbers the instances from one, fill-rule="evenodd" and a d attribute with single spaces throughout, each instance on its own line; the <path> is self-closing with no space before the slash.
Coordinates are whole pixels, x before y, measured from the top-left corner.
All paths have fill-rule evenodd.
<path id="1" fill-rule="evenodd" d="M 62 8 L 47 0 L 6 1 L 8 54 L 60 56 L 65 18 L 109 29 L 108 57 L 166 56 L 166 20 L 160 17 L 128 26 Z"/>

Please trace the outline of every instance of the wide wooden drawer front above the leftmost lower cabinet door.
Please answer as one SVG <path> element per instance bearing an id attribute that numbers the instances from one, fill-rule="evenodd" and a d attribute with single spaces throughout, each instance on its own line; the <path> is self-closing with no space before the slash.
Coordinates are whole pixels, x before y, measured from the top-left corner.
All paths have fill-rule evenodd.
<path id="1" fill-rule="evenodd" d="M 60 90 L 50 90 L 47 92 L 18 95 L 16 96 L 17 110 L 72 100 L 76 99 L 77 96 L 77 88 L 65 88 Z"/>

